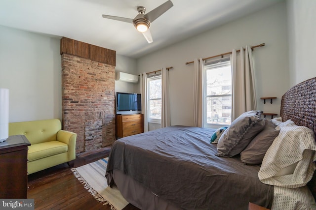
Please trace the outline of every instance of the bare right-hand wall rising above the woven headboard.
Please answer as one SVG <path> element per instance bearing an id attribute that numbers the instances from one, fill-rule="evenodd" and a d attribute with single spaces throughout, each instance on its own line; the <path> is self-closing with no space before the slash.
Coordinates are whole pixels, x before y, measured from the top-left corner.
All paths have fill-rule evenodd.
<path id="1" fill-rule="evenodd" d="M 316 77 L 316 0 L 287 0 L 290 86 Z"/>

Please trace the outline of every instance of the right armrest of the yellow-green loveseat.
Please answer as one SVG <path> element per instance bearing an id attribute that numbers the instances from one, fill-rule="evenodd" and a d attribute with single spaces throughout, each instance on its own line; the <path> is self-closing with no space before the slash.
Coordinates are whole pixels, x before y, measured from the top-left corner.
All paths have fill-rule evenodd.
<path id="1" fill-rule="evenodd" d="M 76 139 L 77 133 L 66 130 L 59 130 L 57 132 L 57 141 L 68 145 L 68 161 L 76 159 Z"/>

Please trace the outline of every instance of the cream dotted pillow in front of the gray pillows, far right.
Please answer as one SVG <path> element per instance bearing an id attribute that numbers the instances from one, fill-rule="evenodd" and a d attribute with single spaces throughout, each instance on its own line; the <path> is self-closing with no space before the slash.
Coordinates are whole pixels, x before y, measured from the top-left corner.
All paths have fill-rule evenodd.
<path id="1" fill-rule="evenodd" d="M 316 169 L 313 162 L 316 161 L 314 132 L 291 120 L 279 127 L 280 133 L 266 152 L 258 177 L 261 182 L 270 185 L 288 188 L 304 186 L 312 179 Z M 295 163 L 294 171 L 286 172 Z"/>

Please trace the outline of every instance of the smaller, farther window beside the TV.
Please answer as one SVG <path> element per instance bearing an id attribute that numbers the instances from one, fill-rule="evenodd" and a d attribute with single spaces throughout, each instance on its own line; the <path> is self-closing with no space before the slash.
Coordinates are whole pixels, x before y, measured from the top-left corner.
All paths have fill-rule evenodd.
<path id="1" fill-rule="evenodd" d="M 160 123 L 161 75 L 148 78 L 148 121 Z"/>

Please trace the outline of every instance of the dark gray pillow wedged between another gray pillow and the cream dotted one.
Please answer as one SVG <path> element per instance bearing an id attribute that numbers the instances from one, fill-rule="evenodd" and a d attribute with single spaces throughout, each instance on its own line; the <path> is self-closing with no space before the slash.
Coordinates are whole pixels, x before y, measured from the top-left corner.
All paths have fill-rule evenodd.
<path id="1" fill-rule="evenodd" d="M 271 120 L 265 119 L 264 129 L 240 153 L 240 160 L 246 165 L 261 164 L 267 150 L 272 145 L 280 131 Z"/>

